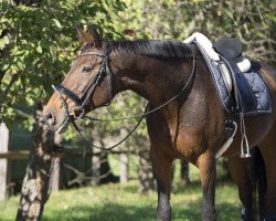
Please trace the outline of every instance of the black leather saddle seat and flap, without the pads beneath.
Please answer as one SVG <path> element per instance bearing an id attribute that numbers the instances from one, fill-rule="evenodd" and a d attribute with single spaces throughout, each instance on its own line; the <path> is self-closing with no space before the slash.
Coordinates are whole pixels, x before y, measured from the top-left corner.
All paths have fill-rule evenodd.
<path id="1" fill-rule="evenodd" d="M 235 98 L 232 110 L 242 113 L 255 110 L 257 108 L 255 95 L 244 73 L 240 71 L 236 64 L 244 59 L 242 42 L 236 38 L 223 38 L 216 41 L 213 46 L 230 65 Z"/>

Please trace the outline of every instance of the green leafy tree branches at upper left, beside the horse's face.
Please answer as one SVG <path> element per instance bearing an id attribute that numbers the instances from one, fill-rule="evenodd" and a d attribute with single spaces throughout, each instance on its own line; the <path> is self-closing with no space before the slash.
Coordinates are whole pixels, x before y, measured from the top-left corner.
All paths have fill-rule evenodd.
<path id="1" fill-rule="evenodd" d="M 119 0 L 1 1 L 1 118 L 52 94 L 78 49 L 77 25 L 89 21 L 104 36 L 118 36 L 110 17 L 123 8 Z"/>

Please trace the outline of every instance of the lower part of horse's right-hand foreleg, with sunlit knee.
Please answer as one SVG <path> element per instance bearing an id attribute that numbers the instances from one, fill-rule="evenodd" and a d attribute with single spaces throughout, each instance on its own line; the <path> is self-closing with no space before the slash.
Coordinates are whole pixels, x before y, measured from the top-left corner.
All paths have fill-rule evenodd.
<path id="1" fill-rule="evenodd" d="M 202 220 L 216 220 L 215 213 L 215 157 L 209 151 L 202 154 L 198 159 L 200 178 L 202 185 Z"/>

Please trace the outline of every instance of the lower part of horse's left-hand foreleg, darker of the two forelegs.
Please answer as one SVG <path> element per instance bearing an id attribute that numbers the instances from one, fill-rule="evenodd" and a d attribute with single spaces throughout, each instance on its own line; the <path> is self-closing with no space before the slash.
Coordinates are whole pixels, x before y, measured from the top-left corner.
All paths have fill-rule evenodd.
<path id="1" fill-rule="evenodd" d="M 172 160 L 164 152 L 151 148 L 151 162 L 158 187 L 157 220 L 168 221 L 171 218 L 170 188 Z"/>

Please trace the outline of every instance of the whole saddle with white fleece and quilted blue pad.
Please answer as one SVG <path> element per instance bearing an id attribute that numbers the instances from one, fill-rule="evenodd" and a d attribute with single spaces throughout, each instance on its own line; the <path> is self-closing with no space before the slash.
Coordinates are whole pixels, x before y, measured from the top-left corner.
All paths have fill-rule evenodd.
<path id="1" fill-rule="evenodd" d="M 261 65 L 245 59 L 236 38 L 223 38 L 214 44 L 201 33 L 192 42 L 201 51 L 212 73 L 222 106 L 229 114 L 257 115 L 270 113 L 269 91 L 259 75 Z"/>

